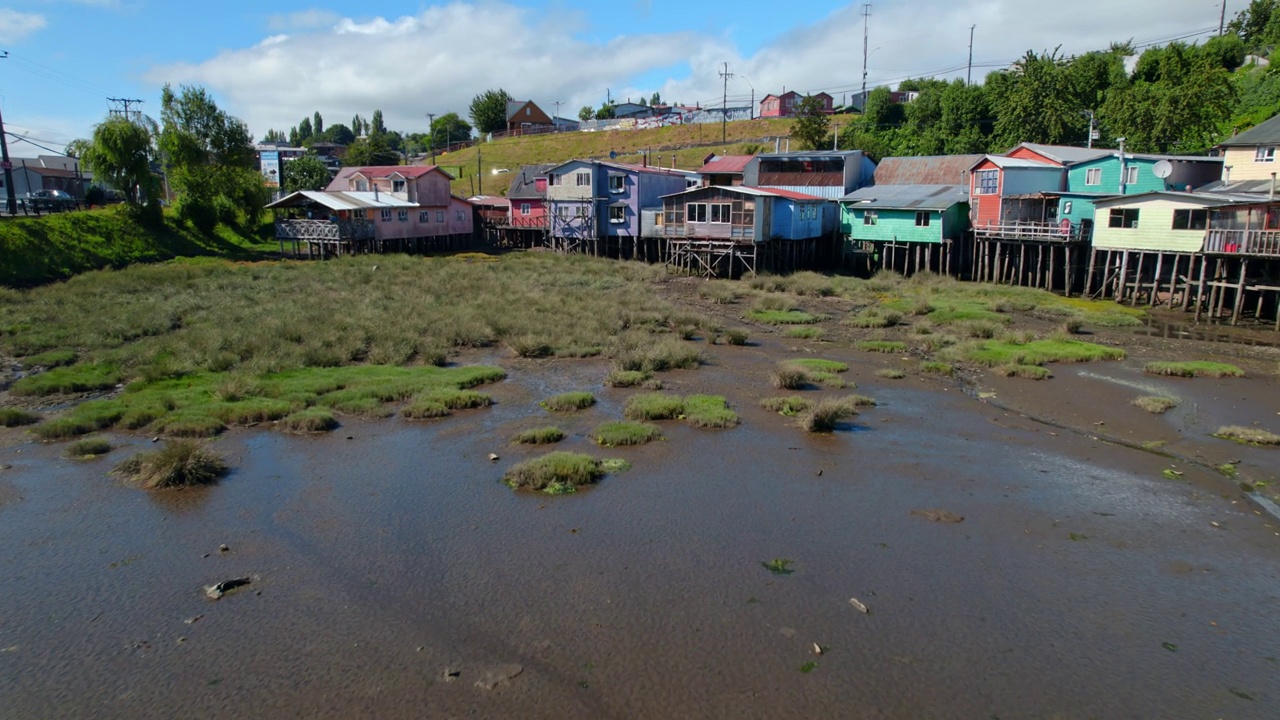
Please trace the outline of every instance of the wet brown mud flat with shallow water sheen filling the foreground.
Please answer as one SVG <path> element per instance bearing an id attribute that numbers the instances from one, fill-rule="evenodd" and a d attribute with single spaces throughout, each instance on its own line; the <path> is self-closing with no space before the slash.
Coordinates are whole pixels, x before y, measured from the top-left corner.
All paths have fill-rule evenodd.
<path id="1" fill-rule="evenodd" d="M 492 409 L 236 430 L 202 491 L 108 475 L 150 438 L 73 461 L 6 430 L 0 715 L 1275 717 L 1280 528 L 1211 466 L 1266 482 L 1280 451 L 1206 436 L 1274 424 L 1274 378 L 1151 378 L 1139 350 L 969 388 L 881 379 L 905 361 L 832 343 L 806 355 L 849 361 L 879 406 L 809 436 L 756 406 L 796 342 L 664 374 L 742 424 L 662 423 L 637 448 L 586 438 L 631 393 L 600 387 L 603 361 L 502 356 L 468 359 L 508 370 Z M 1129 406 L 1146 384 L 1184 404 Z M 545 450 L 508 439 L 571 389 L 600 402 L 550 419 L 558 448 L 634 468 L 512 492 L 502 471 Z M 1203 464 L 1165 479 L 1174 460 L 1108 437 Z M 964 520 L 913 515 L 931 509 Z"/>

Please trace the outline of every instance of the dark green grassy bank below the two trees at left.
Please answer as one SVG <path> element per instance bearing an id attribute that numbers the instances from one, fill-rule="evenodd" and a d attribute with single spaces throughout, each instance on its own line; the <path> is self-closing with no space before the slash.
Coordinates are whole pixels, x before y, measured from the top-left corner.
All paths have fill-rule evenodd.
<path id="1" fill-rule="evenodd" d="M 270 225 L 253 234 L 219 225 L 206 237 L 172 217 L 165 217 L 163 227 L 148 228 L 124 206 L 8 218 L 0 220 L 0 284 L 33 286 L 179 256 L 252 256 L 270 247 Z"/>

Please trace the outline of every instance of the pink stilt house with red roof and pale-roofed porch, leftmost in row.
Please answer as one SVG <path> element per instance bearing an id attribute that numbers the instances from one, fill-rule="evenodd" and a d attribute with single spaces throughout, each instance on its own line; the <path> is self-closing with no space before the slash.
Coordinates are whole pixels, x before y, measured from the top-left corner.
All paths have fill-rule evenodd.
<path id="1" fill-rule="evenodd" d="M 458 247 L 475 232 L 470 202 L 435 165 L 343 168 L 324 191 L 300 191 L 266 208 L 284 217 L 275 237 L 307 255 Z"/>

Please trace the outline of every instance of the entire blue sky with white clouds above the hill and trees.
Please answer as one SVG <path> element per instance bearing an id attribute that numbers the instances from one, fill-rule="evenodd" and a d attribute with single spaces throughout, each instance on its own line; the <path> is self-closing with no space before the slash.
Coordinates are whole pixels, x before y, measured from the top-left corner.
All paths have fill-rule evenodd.
<path id="1" fill-rule="evenodd" d="M 1229 0 L 1229 15 L 1245 0 Z M 980 77 L 1028 49 L 1064 53 L 1162 40 L 1217 24 L 1211 0 L 884 0 L 872 8 L 868 81 L 963 76 L 977 24 Z M 381 109 L 393 129 L 466 115 L 503 87 L 572 117 L 582 105 L 662 92 L 718 105 L 782 88 L 837 96 L 861 83 L 861 5 L 840 0 L 0 0 L 0 111 L 12 152 L 61 149 L 110 104 L 159 115 L 165 82 L 207 87 L 261 136 L 320 110 L 349 123 Z M 1107 22 L 1088 18 L 1107 18 Z M 1197 36 L 1203 38 L 1204 35 Z"/>

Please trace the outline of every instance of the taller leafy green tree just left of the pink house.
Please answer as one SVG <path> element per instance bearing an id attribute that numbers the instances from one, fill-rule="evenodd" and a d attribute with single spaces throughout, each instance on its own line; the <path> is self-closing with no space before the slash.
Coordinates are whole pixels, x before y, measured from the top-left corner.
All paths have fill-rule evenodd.
<path id="1" fill-rule="evenodd" d="M 219 220 L 241 214 L 256 224 L 266 188 L 256 170 L 248 127 L 218 108 L 202 87 L 183 86 L 160 94 L 159 146 L 178 190 L 178 215 L 210 232 Z M 306 122 L 306 120 L 303 120 Z"/>

